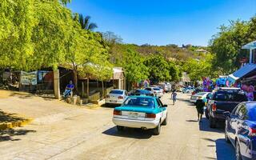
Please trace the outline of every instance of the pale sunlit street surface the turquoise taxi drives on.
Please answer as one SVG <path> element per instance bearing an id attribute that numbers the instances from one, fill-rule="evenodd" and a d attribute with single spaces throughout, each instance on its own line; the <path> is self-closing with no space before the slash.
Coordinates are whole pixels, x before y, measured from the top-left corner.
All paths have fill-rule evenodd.
<path id="1" fill-rule="evenodd" d="M 6 104 L 10 102 L 6 100 Z M 206 118 L 196 121 L 189 95 L 178 94 L 175 106 L 170 94 L 165 94 L 162 102 L 168 105 L 168 124 L 162 126 L 158 136 L 148 130 L 118 132 L 111 122 L 113 108 L 69 108 L 38 118 L 14 130 L 13 135 L 0 134 L 10 136 L 0 141 L 0 159 L 235 159 L 234 148 L 226 144 L 222 128 L 210 129 Z"/>

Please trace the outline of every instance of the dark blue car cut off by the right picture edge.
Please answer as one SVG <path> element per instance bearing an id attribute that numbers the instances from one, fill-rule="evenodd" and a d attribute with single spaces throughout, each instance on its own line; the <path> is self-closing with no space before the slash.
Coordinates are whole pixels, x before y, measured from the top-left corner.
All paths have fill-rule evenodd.
<path id="1" fill-rule="evenodd" d="M 236 159 L 256 159 L 256 102 L 242 102 L 226 114 L 225 139 L 236 150 Z"/>

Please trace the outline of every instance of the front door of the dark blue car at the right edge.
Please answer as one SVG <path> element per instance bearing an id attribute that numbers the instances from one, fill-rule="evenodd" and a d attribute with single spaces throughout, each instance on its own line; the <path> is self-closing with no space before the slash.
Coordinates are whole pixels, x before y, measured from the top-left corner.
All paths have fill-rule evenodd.
<path id="1" fill-rule="evenodd" d="M 228 122 L 228 134 L 230 136 L 230 141 L 234 144 L 236 128 L 237 128 L 237 121 L 238 121 L 238 112 L 241 108 L 242 104 L 236 106 L 232 113 L 230 114 L 230 119 Z"/>

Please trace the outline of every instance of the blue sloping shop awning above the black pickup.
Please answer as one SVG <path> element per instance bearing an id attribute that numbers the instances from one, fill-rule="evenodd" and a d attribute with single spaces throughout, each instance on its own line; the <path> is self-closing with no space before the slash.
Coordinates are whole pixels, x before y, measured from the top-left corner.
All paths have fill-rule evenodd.
<path id="1" fill-rule="evenodd" d="M 228 76 L 228 80 L 232 83 L 237 81 L 238 79 L 246 76 L 250 72 L 256 70 L 256 64 L 247 64 L 246 66 L 242 66 L 239 70 L 235 71 L 233 74 Z"/>

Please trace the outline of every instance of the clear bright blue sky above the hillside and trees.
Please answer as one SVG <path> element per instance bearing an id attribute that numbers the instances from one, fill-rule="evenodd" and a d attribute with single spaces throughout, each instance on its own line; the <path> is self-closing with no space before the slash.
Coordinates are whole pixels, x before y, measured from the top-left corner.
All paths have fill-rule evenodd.
<path id="1" fill-rule="evenodd" d="M 256 14 L 256 0 L 73 0 L 68 7 L 90 15 L 97 31 L 138 45 L 207 46 L 218 26 Z"/>

